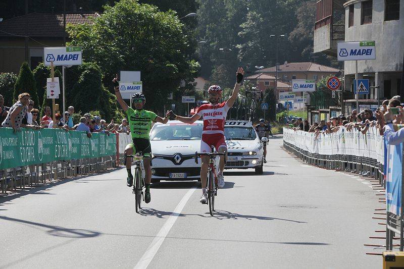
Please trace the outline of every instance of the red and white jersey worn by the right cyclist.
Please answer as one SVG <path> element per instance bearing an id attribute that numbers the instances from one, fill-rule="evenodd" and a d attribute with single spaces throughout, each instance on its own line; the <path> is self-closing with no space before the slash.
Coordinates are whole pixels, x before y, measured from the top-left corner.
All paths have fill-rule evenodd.
<path id="1" fill-rule="evenodd" d="M 229 106 L 226 102 L 213 105 L 207 103 L 199 106 L 197 115 L 204 119 L 203 134 L 224 134 L 224 123 L 226 122 Z"/>

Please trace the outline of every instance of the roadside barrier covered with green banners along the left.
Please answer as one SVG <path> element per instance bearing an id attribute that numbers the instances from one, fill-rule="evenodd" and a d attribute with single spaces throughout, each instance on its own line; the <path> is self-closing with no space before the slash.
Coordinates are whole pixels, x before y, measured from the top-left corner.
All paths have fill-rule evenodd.
<path id="1" fill-rule="evenodd" d="M 115 134 L 59 129 L 0 128 L 0 184 L 8 188 L 25 188 L 39 181 L 99 173 L 116 167 Z"/>

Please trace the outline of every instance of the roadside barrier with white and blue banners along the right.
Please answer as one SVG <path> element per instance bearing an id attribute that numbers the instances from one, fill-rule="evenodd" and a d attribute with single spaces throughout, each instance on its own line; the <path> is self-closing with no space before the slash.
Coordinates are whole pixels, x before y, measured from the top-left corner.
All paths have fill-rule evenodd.
<path id="1" fill-rule="evenodd" d="M 284 148 L 310 165 L 374 177 L 386 188 L 386 250 L 392 250 L 393 239 L 404 248 L 404 175 L 403 143 L 388 145 L 376 127 L 362 134 L 341 127 L 331 134 L 309 133 L 283 128 Z M 384 219 L 384 218 L 377 218 Z"/>

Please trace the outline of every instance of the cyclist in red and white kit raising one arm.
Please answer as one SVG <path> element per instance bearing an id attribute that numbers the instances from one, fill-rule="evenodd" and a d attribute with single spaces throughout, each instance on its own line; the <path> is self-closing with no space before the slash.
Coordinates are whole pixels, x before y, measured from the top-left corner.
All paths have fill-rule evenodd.
<path id="1" fill-rule="evenodd" d="M 200 152 L 211 152 L 211 145 L 215 146 L 217 152 L 227 151 L 227 146 L 224 139 L 224 124 L 226 121 L 227 112 L 229 111 L 230 107 L 233 106 L 237 98 L 243 76 L 244 70 L 239 67 L 236 72 L 236 84 L 234 85 L 233 93 L 225 102 L 219 103 L 222 95 L 222 88 L 218 85 L 212 85 L 208 89 L 210 103 L 199 106 L 197 113 L 192 117 L 181 117 L 175 115 L 172 111 L 169 112 L 171 113 L 172 117 L 175 117 L 176 120 L 188 124 L 192 124 L 203 117 L 204 129 L 202 131 L 202 139 L 200 140 Z M 206 185 L 209 157 L 201 156 L 201 160 L 202 164 L 200 167 L 200 181 L 202 185 L 202 196 L 200 197 L 199 201 L 201 203 L 206 203 L 208 200 Z M 223 178 L 224 166 L 225 156 L 220 156 L 218 173 L 218 187 L 220 188 L 223 188 L 225 185 Z"/>

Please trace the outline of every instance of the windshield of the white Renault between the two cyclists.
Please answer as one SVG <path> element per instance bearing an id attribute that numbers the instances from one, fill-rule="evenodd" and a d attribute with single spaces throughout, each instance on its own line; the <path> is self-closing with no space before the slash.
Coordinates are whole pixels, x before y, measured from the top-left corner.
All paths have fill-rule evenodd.
<path id="1" fill-rule="evenodd" d="M 150 133 L 150 140 L 200 140 L 203 124 L 159 124 Z"/>

